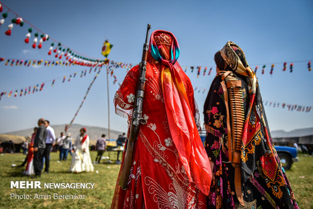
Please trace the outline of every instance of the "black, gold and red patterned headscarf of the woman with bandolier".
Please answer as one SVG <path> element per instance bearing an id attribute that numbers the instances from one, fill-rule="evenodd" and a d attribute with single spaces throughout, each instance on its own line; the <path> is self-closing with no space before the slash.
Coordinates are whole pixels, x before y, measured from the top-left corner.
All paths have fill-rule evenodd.
<path id="1" fill-rule="evenodd" d="M 219 54 L 223 61 L 220 60 Z M 267 186 L 277 198 L 282 197 L 283 186 L 286 185 L 281 165 L 270 132 L 266 115 L 263 110 L 262 97 L 253 70 L 248 66 L 242 49 L 232 41 L 218 51 L 215 56 L 217 70 L 231 70 L 246 78 L 249 89 L 249 106 L 245 118 L 241 145 L 241 176 L 246 182 L 259 161 L 259 172 L 267 179 Z M 222 68 L 222 69 L 219 69 Z"/>

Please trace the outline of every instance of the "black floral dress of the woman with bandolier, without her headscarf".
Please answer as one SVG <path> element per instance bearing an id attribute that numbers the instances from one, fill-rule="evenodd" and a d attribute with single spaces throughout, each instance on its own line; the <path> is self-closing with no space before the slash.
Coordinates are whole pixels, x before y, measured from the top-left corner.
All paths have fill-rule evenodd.
<path id="1" fill-rule="evenodd" d="M 247 115 L 249 106 L 247 81 L 238 74 L 237 77 L 242 81 L 243 106 L 245 115 Z M 215 164 L 213 169 L 214 178 L 208 196 L 208 207 L 278 208 L 279 205 L 280 208 L 298 208 L 284 170 L 283 176 L 287 184 L 286 192 L 289 194 L 283 195 L 282 198 L 277 198 L 273 196 L 273 192 L 265 181 L 266 178 L 259 171 L 262 168 L 258 161 L 255 162 L 255 169 L 249 179 L 246 182 L 242 180 L 245 206 L 239 204 L 234 187 L 234 168 L 228 159 L 227 112 L 221 82 L 222 79 L 220 77 L 216 77 L 213 80 L 203 111 L 206 129 L 205 150 L 210 161 Z M 267 147 L 264 147 L 264 149 L 266 150 Z"/>

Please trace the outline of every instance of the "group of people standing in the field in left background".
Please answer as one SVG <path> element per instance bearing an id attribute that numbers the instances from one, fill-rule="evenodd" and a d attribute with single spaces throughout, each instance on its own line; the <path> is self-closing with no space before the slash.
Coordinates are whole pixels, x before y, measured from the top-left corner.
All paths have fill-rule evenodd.
<path id="1" fill-rule="evenodd" d="M 93 172 L 94 166 L 90 158 L 89 136 L 86 128 L 80 129 L 80 134 L 73 141 L 72 134 L 64 132 L 56 138 L 54 129 L 50 122 L 40 118 L 33 129 L 30 141 L 23 144 L 23 154 L 26 155 L 24 162 L 19 167 L 25 167 L 23 174 L 31 178 L 39 178 L 41 173 L 48 174 L 50 168 L 50 152 L 59 152 L 58 163 L 67 161 L 68 154 L 72 156 L 71 166 L 68 172 L 81 173 Z M 124 146 L 126 141 L 125 133 L 119 135 L 117 145 Z M 96 159 L 93 164 L 99 164 L 103 153 L 107 150 L 106 135 L 102 134 L 97 140 L 95 149 Z"/>

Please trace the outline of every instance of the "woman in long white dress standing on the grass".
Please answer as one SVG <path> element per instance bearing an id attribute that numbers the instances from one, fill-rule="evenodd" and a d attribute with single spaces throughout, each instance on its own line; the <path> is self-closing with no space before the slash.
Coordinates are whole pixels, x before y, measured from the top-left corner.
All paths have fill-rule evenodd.
<path id="1" fill-rule="evenodd" d="M 80 129 L 80 135 L 77 136 L 74 146 L 74 154 L 69 172 L 93 172 L 94 167 L 89 153 L 89 136 L 86 134 L 86 128 Z"/>

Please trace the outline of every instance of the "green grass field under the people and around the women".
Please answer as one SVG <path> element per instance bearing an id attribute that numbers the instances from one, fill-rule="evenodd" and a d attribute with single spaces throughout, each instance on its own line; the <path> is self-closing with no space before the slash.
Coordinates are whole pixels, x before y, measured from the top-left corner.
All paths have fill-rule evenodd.
<path id="1" fill-rule="evenodd" d="M 106 152 L 115 162 L 116 152 Z M 120 165 L 98 164 L 94 165 L 93 173 L 68 173 L 71 156 L 68 161 L 58 163 L 58 153 L 51 153 L 50 172 L 42 174 L 39 179 L 30 179 L 24 176 L 21 167 L 12 167 L 12 164 L 20 165 L 25 158 L 22 154 L 0 155 L 0 208 L 110 208 L 113 197 L 116 178 Z M 96 152 L 91 151 L 92 161 Z M 96 172 L 98 171 L 98 172 Z M 300 208 L 313 208 L 313 158 L 299 156 L 299 162 L 292 165 L 287 171 L 287 177 L 294 191 Z M 11 189 L 11 181 L 40 181 L 41 189 Z M 44 183 L 95 183 L 93 189 L 48 189 L 43 188 Z M 11 198 L 11 193 L 20 196 L 32 195 L 32 199 Z M 41 194 L 47 199 L 34 199 L 35 194 Z M 54 193 L 59 195 L 73 194 L 85 195 L 84 199 L 54 199 Z"/>

